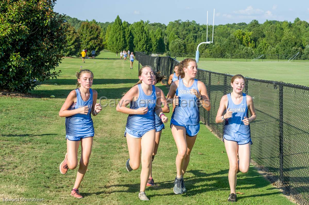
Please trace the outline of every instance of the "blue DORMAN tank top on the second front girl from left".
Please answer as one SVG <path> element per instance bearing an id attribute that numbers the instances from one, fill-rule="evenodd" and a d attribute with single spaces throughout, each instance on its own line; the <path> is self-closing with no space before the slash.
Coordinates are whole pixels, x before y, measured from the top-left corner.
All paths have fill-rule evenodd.
<path id="1" fill-rule="evenodd" d="M 134 131 L 150 131 L 155 129 L 155 103 L 157 100 L 155 86 L 152 86 L 150 95 L 144 93 L 141 84 L 138 84 L 138 90 L 138 99 L 130 102 L 130 108 L 137 110 L 140 107 L 148 107 L 148 112 L 145 115 L 130 114 L 125 127 Z"/>

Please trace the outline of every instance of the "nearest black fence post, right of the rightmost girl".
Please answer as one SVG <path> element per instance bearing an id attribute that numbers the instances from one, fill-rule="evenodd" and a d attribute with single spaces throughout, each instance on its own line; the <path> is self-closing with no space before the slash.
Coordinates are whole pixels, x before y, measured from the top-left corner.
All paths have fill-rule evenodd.
<path id="1" fill-rule="evenodd" d="M 284 184 L 283 177 L 283 86 L 279 85 L 279 177 Z"/>

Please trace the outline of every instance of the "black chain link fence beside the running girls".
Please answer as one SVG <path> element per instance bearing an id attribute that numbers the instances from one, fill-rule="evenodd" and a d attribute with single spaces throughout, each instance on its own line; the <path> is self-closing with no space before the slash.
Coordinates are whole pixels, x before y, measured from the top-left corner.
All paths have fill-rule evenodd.
<path id="1" fill-rule="evenodd" d="M 136 58 L 169 76 L 178 61 L 140 52 Z M 232 75 L 198 69 L 211 110 L 200 108 L 201 121 L 222 139 L 223 123 L 215 118 L 223 95 L 230 93 Z M 167 79 L 163 80 L 167 84 Z M 253 98 L 257 119 L 250 123 L 252 163 L 279 182 L 298 203 L 309 204 L 309 87 L 247 78 L 244 92 Z"/>

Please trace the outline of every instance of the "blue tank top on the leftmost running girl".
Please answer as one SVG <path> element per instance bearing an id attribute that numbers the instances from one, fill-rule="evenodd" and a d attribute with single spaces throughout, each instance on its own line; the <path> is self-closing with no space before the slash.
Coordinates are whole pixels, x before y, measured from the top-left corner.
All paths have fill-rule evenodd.
<path id="1" fill-rule="evenodd" d="M 92 108 L 92 89 L 89 89 L 90 97 L 87 101 L 82 99 L 79 89 L 75 89 L 76 103 L 73 103 L 68 110 L 78 109 L 80 107 L 88 106 L 88 114 L 75 114 L 70 117 L 66 117 L 66 135 L 70 136 L 93 136 L 95 134 L 93 128 L 93 122 L 91 119 Z"/>

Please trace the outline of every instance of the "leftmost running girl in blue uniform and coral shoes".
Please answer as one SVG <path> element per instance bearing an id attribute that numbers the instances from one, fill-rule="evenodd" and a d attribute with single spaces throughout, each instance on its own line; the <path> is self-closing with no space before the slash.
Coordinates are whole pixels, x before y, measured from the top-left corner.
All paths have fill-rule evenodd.
<path id="1" fill-rule="evenodd" d="M 98 115 L 102 107 L 99 103 L 96 103 L 98 93 L 91 89 L 93 73 L 90 70 L 81 70 L 76 73 L 76 77 L 77 89 L 70 92 L 59 111 L 60 117 L 66 117 L 67 144 L 67 153 L 59 169 L 61 174 L 66 174 L 68 169 L 77 167 L 77 152 L 79 143 L 81 143 L 82 155 L 71 196 L 83 198 L 78 187 L 88 167 L 95 134 L 91 114 L 93 116 Z"/>

